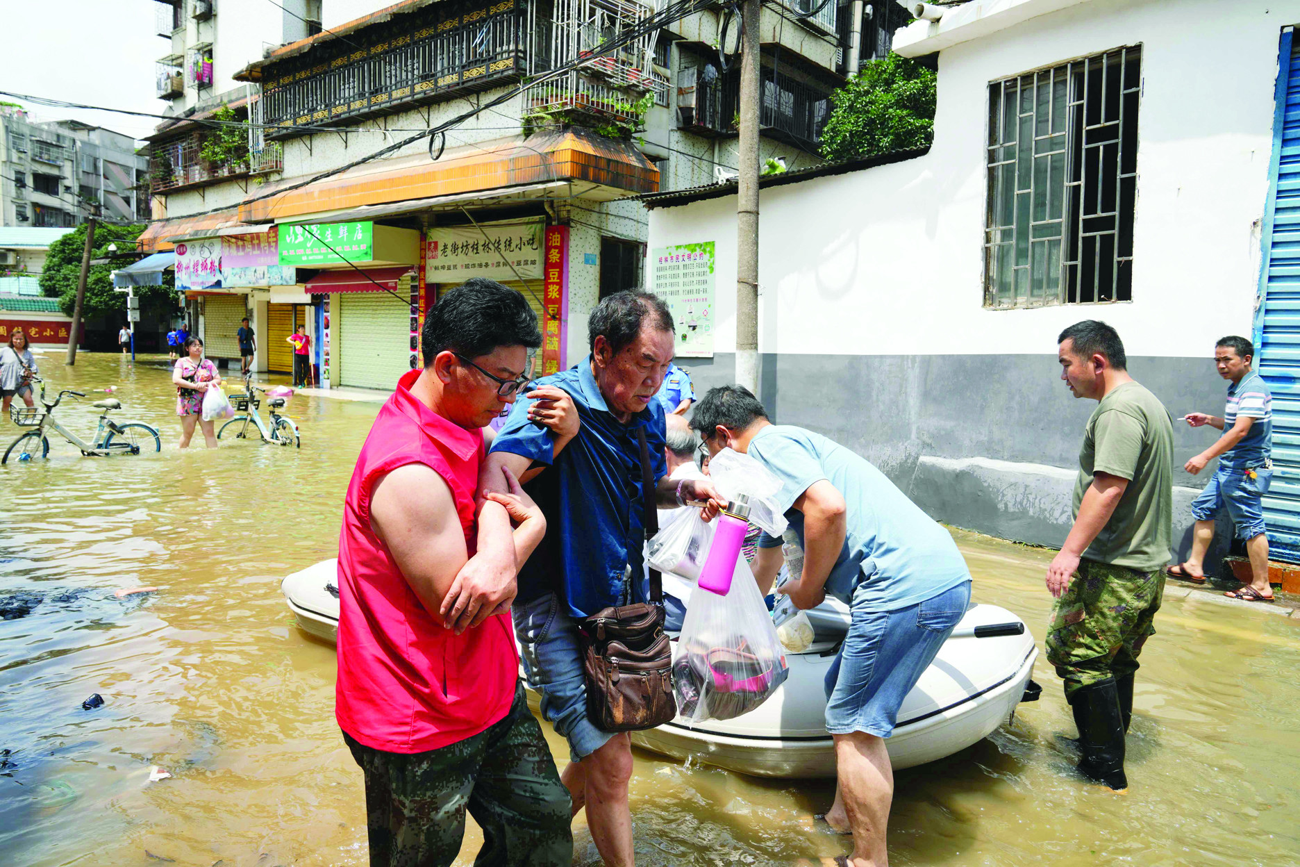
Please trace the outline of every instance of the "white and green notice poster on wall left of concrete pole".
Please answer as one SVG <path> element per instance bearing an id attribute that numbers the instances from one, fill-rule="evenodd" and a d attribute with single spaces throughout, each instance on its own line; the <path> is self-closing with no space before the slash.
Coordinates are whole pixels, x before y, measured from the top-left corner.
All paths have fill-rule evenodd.
<path id="1" fill-rule="evenodd" d="M 677 326 L 676 354 L 712 357 L 714 242 L 650 251 L 650 291 L 663 299 Z"/>

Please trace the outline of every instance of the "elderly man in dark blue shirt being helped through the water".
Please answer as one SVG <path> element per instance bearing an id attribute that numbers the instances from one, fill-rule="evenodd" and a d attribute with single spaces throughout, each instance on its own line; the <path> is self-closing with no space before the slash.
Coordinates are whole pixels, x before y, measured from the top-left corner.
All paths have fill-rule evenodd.
<path id="1" fill-rule="evenodd" d="M 575 621 L 608 606 L 646 601 L 645 484 L 663 506 L 702 500 L 711 517 L 722 503 L 707 480 L 667 478 L 664 411 L 655 399 L 672 361 L 667 305 L 647 292 L 610 295 L 592 311 L 588 339 L 588 357 L 538 381 L 573 398 L 577 434 L 558 437 L 538 424 L 545 407 L 519 400 L 493 441 L 484 478 L 489 486 L 500 484 L 500 468 L 508 467 L 546 516 L 546 538 L 519 571 L 515 634 L 528 680 L 542 695 L 542 716 L 569 742 L 572 762 L 560 779 L 573 815 L 585 807 L 604 863 L 628 867 L 632 741 L 627 732 L 606 732 L 588 716 Z M 641 478 L 642 439 L 653 480 Z"/>

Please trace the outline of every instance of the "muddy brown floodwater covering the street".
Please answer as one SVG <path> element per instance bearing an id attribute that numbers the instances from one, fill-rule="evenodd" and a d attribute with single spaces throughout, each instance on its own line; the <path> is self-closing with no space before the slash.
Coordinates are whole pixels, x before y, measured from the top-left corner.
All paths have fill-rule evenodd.
<path id="1" fill-rule="evenodd" d="M 300 451 L 177 450 L 160 359 L 61 352 L 51 389 L 118 387 L 162 452 L 0 467 L 0 863 L 364 864 L 361 773 L 334 724 L 334 650 L 295 625 L 280 578 L 335 554 L 343 491 L 377 403 L 294 398 Z M 74 430 L 88 406 L 60 407 Z M 17 433 L 4 420 L 0 447 Z M 1039 638 L 1049 552 L 957 533 L 975 599 Z M 159 588 L 148 597 L 113 591 Z M 1193 594 L 1195 595 L 1195 594 Z M 1074 734 L 1041 656 L 1043 699 L 946 760 L 904 771 L 890 863 L 1300 863 L 1300 621 L 1169 601 L 1139 672 L 1127 796 L 1079 783 Z M 81 705 L 92 693 L 95 710 Z M 547 729 L 563 764 L 567 749 Z M 150 783 L 153 766 L 170 779 Z M 848 851 L 810 829 L 828 783 L 757 780 L 638 753 L 641 864 L 794 864 Z M 473 828 L 462 859 L 481 837 Z M 576 863 L 595 864 L 577 828 Z"/>

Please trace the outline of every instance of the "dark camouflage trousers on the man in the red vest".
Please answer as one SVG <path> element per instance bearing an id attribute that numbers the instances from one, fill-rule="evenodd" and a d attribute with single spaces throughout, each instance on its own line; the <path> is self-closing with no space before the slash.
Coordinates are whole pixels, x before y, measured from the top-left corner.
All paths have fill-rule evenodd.
<path id="1" fill-rule="evenodd" d="M 484 831 L 476 867 L 572 863 L 572 801 L 523 684 L 503 720 L 438 750 L 407 755 L 343 740 L 365 772 L 372 867 L 446 867 L 467 810 Z"/>

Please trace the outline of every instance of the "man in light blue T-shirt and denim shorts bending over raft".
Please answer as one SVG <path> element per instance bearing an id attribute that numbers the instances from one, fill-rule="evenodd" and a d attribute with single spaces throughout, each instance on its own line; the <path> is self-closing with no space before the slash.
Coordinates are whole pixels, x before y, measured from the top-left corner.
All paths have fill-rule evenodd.
<path id="1" fill-rule="evenodd" d="M 971 576 L 953 537 L 863 458 L 803 428 L 774 425 L 741 386 L 711 389 L 690 426 L 710 455 L 733 448 L 779 480 L 785 517 L 803 546 L 803 572 L 777 591 L 800 608 L 829 593 L 853 610 L 826 677 L 826 731 L 840 785 L 826 822 L 853 833 L 852 864 L 887 861 L 893 772 L 884 738 L 904 698 L 970 604 Z M 781 541 L 764 536 L 754 577 L 766 594 Z"/>

